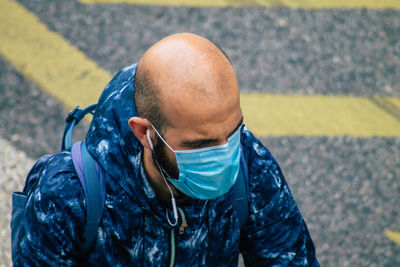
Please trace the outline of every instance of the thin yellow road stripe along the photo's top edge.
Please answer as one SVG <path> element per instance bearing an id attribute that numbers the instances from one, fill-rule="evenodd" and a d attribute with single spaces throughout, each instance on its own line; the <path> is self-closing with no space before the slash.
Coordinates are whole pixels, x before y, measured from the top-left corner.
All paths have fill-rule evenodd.
<path id="1" fill-rule="evenodd" d="M 79 0 L 84 4 L 135 4 L 191 7 L 288 7 L 304 9 L 370 8 L 400 9 L 396 0 Z"/>

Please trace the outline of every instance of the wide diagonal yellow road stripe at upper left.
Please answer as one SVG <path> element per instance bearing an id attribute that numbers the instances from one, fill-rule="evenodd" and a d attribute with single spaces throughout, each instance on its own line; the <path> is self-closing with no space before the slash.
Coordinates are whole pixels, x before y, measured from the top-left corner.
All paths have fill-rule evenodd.
<path id="1" fill-rule="evenodd" d="M 0 54 L 68 107 L 97 101 L 111 75 L 14 1 L 0 0 Z"/>

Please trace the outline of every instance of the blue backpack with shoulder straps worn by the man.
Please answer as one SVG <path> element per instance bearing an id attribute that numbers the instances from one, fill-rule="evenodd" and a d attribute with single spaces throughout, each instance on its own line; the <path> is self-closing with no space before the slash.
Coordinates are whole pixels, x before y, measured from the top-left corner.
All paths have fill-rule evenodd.
<path id="1" fill-rule="evenodd" d="M 81 249 L 82 257 L 85 257 L 92 249 L 97 236 L 98 227 L 103 216 L 105 201 L 105 174 L 95 159 L 87 151 L 84 142 L 72 144 L 74 127 L 88 113 L 94 114 L 97 104 L 90 105 L 85 109 L 76 107 L 65 119 L 66 126 L 61 143 L 61 151 L 71 150 L 72 160 L 75 170 L 79 176 L 87 203 L 87 221 L 84 232 L 84 244 Z M 25 186 L 22 192 L 12 194 L 12 214 L 11 214 L 11 247 L 12 258 L 17 249 L 19 231 L 23 227 L 25 220 L 25 207 L 30 194 L 39 182 L 39 171 L 43 164 L 49 159 L 50 155 L 42 156 L 28 173 Z M 234 209 L 239 217 L 240 228 L 243 227 L 248 216 L 248 169 L 247 162 L 243 155 L 240 158 L 240 173 L 233 185 L 234 190 Z"/>

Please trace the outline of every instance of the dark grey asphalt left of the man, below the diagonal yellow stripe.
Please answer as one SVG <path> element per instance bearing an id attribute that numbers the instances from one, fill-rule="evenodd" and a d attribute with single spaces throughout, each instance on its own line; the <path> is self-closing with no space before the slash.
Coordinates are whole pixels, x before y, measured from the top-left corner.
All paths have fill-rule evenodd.
<path id="1" fill-rule="evenodd" d="M 61 149 L 69 111 L 29 82 L 0 56 L 0 136 L 32 157 Z M 79 124 L 74 137 L 83 139 L 87 125 Z"/>

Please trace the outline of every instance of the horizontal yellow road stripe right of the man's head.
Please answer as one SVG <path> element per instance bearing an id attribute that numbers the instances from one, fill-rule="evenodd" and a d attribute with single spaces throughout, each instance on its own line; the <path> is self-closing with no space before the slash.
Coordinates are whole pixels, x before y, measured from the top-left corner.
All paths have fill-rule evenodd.
<path id="1" fill-rule="evenodd" d="M 400 121 L 369 98 L 256 93 L 242 94 L 241 101 L 246 123 L 259 136 L 400 136 Z"/>

